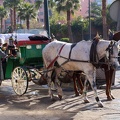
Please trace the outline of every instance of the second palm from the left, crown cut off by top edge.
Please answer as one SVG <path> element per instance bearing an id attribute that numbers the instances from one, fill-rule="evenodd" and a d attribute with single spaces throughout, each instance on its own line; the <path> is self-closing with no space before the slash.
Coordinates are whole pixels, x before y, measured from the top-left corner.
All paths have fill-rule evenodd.
<path id="1" fill-rule="evenodd" d="M 16 9 L 22 1 L 23 0 L 4 0 L 3 2 L 4 7 L 10 9 L 11 27 L 13 28 L 13 30 L 16 30 Z"/>

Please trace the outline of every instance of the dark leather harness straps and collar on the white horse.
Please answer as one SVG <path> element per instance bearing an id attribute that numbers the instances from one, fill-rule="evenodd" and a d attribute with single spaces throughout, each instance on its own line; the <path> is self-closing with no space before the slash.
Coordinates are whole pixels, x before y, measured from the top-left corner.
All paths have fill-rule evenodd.
<path id="1" fill-rule="evenodd" d="M 86 62 L 86 63 L 92 63 L 96 68 L 100 67 L 101 65 L 103 64 L 107 64 L 109 66 L 111 66 L 111 55 L 113 54 L 113 47 L 115 45 L 115 41 L 111 41 L 111 43 L 108 45 L 107 49 L 106 49 L 106 54 L 108 53 L 108 56 L 106 55 L 104 58 L 100 59 L 98 58 L 98 54 L 97 54 L 97 44 L 98 44 L 99 40 L 93 40 L 93 43 L 91 45 L 91 49 L 90 49 L 90 60 L 88 61 L 84 61 L 84 60 L 75 60 L 75 59 L 71 59 L 71 52 L 72 52 L 72 49 L 76 46 L 77 43 L 73 43 L 71 45 L 71 48 L 70 48 L 70 52 L 69 52 L 69 56 L 68 58 L 67 57 L 64 57 L 64 56 L 61 56 L 60 53 L 63 49 L 63 47 L 65 46 L 65 44 L 63 44 L 63 46 L 60 48 L 59 50 L 59 53 L 58 55 L 54 58 L 54 60 L 49 64 L 49 66 L 47 67 L 50 68 L 53 64 L 55 64 L 56 67 L 61 67 L 62 65 L 66 64 L 67 62 L 69 61 L 73 61 L 73 62 Z M 58 57 L 61 57 L 61 58 L 64 58 L 66 59 L 65 62 L 63 62 L 61 65 L 59 65 L 57 63 L 57 59 Z M 118 58 L 118 57 L 117 57 Z"/>

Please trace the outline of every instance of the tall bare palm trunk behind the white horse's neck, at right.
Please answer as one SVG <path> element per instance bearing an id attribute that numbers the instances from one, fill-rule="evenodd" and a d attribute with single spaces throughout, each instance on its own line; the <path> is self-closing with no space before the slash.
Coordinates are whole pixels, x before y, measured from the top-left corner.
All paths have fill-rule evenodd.
<path id="1" fill-rule="evenodd" d="M 102 0 L 103 39 L 107 39 L 106 0 Z"/>

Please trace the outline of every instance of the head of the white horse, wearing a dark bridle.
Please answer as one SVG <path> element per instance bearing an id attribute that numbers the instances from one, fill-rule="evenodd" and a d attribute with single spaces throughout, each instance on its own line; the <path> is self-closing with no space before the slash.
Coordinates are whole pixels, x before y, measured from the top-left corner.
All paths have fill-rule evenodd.
<path id="1" fill-rule="evenodd" d="M 114 69 L 116 69 L 119 65 L 118 62 L 118 53 L 119 53 L 119 45 L 120 41 L 111 41 L 106 51 L 108 53 L 108 60 L 111 62 L 111 65 Z"/>

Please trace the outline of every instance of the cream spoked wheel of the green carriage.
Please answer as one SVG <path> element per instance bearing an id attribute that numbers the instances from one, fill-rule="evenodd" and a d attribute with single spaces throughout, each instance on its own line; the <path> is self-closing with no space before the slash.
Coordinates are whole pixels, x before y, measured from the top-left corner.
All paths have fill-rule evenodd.
<path id="1" fill-rule="evenodd" d="M 12 72 L 12 87 L 17 95 L 23 95 L 28 88 L 28 77 L 22 67 L 16 67 Z"/>

